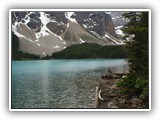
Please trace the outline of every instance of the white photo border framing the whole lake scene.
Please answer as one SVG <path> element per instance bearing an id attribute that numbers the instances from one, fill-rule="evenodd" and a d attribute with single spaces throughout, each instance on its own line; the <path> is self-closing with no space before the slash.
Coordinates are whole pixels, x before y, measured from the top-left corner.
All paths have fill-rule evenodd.
<path id="1" fill-rule="evenodd" d="M 12 75 L 12 57 L 11 57 L 11 13 L 14 11 L 65 11 L 65 12 L 74 12 L 74 11 L 101 11 L 101 12 L 148 12 L 149 13 L 149 109 L 85 109 L 85 108 L 64 108 L 64 109 L 12 109 L 11 108 L 11 75 Z M 151 10 L 150 9 L 10 9 L 9 10 L 9 110 L 10 111 L 151 111 Z"/>

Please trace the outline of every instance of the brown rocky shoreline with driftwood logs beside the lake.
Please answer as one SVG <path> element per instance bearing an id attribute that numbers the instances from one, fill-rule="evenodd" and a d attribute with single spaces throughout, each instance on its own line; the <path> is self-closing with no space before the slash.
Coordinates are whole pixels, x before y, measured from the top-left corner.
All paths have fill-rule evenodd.
<path id="1" fill-rule="evenodd" d="M 96 108 L 108 109 L 148 109 L 148 102 L 144 102 L 137 96 L 127 97 L 119 93 L 116 86 L 121 78 L 103 78 L 98 82 Z"/>

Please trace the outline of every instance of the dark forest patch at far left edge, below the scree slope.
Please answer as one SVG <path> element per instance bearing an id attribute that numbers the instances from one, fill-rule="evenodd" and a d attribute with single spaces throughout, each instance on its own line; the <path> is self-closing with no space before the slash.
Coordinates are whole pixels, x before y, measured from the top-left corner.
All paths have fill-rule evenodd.
<path id="1" fill-rule="evenodd" d="M 40 59 L 38 55 L 33 55 L 29 53 L 24 53 L 19 51 L 19 40 L 18 37 L 12 32 L 12 60 L 30 60 L 30 59 Z"/>

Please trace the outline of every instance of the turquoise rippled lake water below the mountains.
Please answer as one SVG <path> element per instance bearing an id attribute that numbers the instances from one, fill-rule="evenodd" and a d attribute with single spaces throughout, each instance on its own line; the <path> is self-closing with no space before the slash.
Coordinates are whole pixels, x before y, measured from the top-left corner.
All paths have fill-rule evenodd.
<path id="1" fill-rule="evenodd" d="M 101 75 L 126 65 L 124 59 L 12 61 L 12 108 L 93 108 Z"/>

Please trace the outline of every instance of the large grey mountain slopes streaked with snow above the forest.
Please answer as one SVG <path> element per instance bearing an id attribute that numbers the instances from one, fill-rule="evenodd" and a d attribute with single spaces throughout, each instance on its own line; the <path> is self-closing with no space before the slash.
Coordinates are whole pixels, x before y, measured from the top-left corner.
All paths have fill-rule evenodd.
<path id="1" fill-rule="evenodd" d="M 105 12 L 12 12 L 19 50 L 41 56 L 73 44 L 121 45 L 113 18 Z"/>

